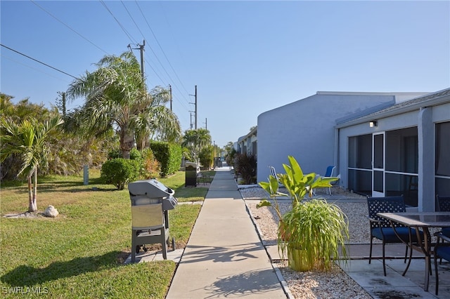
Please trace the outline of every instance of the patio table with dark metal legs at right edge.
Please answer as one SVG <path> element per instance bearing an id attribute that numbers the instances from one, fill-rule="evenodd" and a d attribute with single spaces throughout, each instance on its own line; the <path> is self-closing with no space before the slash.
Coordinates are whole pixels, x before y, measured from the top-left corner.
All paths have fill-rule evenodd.
<path id="1" fill-rule="evenodd" d="M 425 286 L 424 291 L 428 291 L 428 284 L 430 282 L 430 267 L 431 267 L 431 255 L 432 244 L 430 228 L 431 227 L 450 227 L 450 212 L 406 212 L 406 213 L 377 213 L 380 217 L 393 222 L 400 223 L 407 227 L 416 228 L 417 243 L 409 241 L 407 246 L 411 246 L 416 251 L 419 251 L 425 255 Z M 395 230 L 394 225 L 392 227 Z M 419 230 L 423 231 L 423 240 Z M 411 260 L 410 260 L 411 262 Z M 408 270 L 409 263 L 406 266 L 403 275 Z"/>

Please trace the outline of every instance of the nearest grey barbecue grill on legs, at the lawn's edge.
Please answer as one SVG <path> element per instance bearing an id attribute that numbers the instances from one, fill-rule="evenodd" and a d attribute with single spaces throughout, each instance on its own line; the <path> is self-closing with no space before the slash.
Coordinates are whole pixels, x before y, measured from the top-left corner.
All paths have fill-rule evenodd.
<path id="1" fill-rule="evenodd" d="M 175 208 L 178 200 L 174 190 L 158 180 L 138 180 L 128 184 L 131 199 L 131 263 L 136 260 L 141 246 L 161 244 L 162 257 L 167 259 L 169 240 L 168 211 Z M 172 248 L 175 242 L 172 238 Z"/>

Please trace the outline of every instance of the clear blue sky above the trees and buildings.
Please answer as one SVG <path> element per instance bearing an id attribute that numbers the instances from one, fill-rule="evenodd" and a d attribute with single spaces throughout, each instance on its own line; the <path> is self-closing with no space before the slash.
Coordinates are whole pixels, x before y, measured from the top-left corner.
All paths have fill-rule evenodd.
<path id="1" fill-rule="evenodd" d="M 145 39 L 149 88 L 172 85 L 186 130 L 197 85 L 198 128 L 207 122 L 221 147 L 316 91 L 450 86 L 450 1 L 1 0 L 0 10 L 1 44 L 75 77 Z M 73 80 L 0 53 L 0 91 L 14 100 L 50 107 Z"/>

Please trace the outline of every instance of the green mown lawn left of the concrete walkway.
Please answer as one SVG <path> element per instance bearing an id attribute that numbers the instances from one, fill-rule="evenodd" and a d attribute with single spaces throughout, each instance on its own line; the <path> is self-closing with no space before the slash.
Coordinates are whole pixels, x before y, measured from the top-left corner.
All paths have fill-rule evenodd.
<path id="1" fill-rule="evenodd" d="M 124 265 L 131 252 L 128 190 L 101 185 L 91 171 L 83 178 L 39 180 L 37 204 L 49 204 L 60 215 L 50 218 L 0 218 L 0 292 L 53 298 L 165 298 L 175 263 L 160 261 Z M 207 188 L 184 188 L 184 173 L 160 181 L 179 201 L 203 200 Z M 95 187 L 95 188 L 94 188 Z M 1 215 L 27 211 L 26 184 L 1 186 Z M 171 237 L 186 246 L 200 205 L 180 204 L 169 211 Z"/>

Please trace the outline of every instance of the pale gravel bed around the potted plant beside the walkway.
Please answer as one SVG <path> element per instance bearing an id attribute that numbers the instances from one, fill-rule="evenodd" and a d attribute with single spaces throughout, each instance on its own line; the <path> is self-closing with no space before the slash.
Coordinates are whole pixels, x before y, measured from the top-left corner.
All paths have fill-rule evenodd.
<path id="1" fill-rule="evenodd" d="M 260 187 L 248 187 L 240 189 L 250 213 L 254 218 L 261 239 L 269 244 L 277 243 L 278 216 L 271 207 L 256 208 L 258 200 L 267 197 L 266 192 Z M 324 193 L 323 193 L 324 194 Z M 339 194 L 354 199 L 364 199 L 358 194 L 352 194 L 333 188 L 333 195 Z M 318 192 L 317 197 L 321 197 Z M 367 243 L 369 241 L 368 220 L 366 218 L 366 204 L 363 202 L 344 202 L 342 200 L 327 199 L 329 202 L 338 204 L 349 219 L 349 241 L 348 243 Z M 283 213 L 290 208 L 290 200 L 278 201 Z M 295 272 L 287 263 L 281 263 L 278 268 L 288 284 L 290 293 L 294 298 L 372 298 L 364 289 L 356 284 L 340 267 L 336 266 L 330 272 Z"/>

